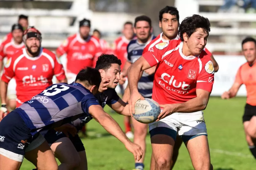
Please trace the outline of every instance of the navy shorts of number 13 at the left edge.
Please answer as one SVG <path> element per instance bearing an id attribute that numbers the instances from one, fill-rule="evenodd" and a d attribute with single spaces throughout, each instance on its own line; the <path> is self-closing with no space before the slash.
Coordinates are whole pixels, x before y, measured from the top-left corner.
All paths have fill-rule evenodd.
<path id="1" fill-rule="evenodd" d="M 0 122 L 0 148 L 25 155 L 32 140 L 30 129 L 17 112 L 12 111 Z"/>

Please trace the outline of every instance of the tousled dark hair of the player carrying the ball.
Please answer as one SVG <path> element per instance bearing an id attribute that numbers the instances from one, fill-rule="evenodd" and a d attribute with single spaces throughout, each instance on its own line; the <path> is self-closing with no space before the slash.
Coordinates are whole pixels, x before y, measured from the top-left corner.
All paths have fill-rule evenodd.
<path id="1" fill-rule="evenodd" d="M 210 21 L 208 18 L 194 14 L 191 17 L 185 18 L 179 25 L 178 35 L 179 38 L 184 41 L 183 34 L 187 33 L 188 38 L 196 32 L 198 28 L 202 28 L 208 35 L 210 32 Z"/>

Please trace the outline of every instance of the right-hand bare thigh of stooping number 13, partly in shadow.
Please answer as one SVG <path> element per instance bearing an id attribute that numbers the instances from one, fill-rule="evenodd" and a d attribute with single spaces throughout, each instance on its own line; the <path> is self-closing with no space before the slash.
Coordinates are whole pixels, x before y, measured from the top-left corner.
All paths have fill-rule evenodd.
<path id="1" fill-rule="evenodd" d="M 25 158 L 33 163 L 38 170 L 57 170 L 58 164 L 49 144 L 44 141 L 40 146 L 25 153 Z"/>

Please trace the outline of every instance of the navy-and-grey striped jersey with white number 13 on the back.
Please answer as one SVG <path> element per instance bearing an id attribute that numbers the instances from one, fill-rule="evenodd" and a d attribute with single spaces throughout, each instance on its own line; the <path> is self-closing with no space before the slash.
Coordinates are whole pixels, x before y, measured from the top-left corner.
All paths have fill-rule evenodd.
<path id="1" fill-rule="evenodd" d="M 91 117 L 88 113 L 91 105 L 99 105 L 99 102 L 84 86 L 79 83 L 58 83 L 49 86 L 14 111 L 18 112 L 34 135 L 81 116 Z"/>

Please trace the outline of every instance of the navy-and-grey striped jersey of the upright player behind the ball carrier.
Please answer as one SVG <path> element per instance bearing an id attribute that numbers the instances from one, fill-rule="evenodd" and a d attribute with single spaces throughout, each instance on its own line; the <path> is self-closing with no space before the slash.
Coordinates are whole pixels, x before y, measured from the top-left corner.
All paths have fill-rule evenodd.
<path id="1" fill-rule="evenodd" d="M 155 38 L 156 37 L 154 35 L 151 35 L 150 41 Z M 138 42 L 138 40 L 131 40 L 127 46 L 127 61 L 130 63 L 134 63 L 138 58 L 140 58 L 147 43 L 141 44 Z M 147 73 L 143 72 L 142 77 L 138 82 L 138 90 L 143 97 L 151 98 L 153 80 L 154 74 L 148 75 Z"/>

